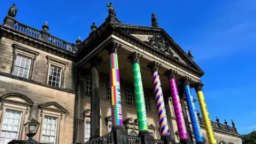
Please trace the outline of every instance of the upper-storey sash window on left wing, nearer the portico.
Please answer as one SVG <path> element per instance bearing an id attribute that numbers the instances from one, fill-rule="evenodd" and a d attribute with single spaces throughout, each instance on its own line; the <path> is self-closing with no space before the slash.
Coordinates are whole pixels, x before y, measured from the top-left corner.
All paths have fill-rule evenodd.
<path id="1" fill-rule="evenodd" d="M 60 87 L 62 69 L 59 67 L 51 66 L 49 73 L 48 84 Z"/>

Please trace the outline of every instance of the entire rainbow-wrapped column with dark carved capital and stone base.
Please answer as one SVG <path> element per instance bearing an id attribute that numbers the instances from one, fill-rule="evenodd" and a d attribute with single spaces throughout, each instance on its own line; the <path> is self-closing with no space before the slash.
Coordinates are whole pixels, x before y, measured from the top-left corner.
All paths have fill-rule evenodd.
<path id="1" fill-rule="evenodd" d="M 118 69 L 117 52 L 121 48 L 120 44 L 110 42 L 108 45 L 109 52 L 109 79 L 111 86 L 111 119 L 112 129 L 114 133 L 114 141 L 116 144 L 129 143 L 127 132 L 123 129 L 120 79 Z"/>

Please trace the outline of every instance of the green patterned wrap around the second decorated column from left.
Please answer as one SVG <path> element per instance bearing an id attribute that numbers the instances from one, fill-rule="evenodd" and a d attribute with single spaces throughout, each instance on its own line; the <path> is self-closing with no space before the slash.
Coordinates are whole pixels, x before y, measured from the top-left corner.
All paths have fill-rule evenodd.
<path id="1" fill-rule="evenodd" d="M 139 131 L 148 131 L 147 113 L 145 107 L 145 99 L 143 94 L 143 86 L 140 74 L 140 64 L 133 63 L 133 82 L 135 101 L 137 106 L 137 118 Z"/>

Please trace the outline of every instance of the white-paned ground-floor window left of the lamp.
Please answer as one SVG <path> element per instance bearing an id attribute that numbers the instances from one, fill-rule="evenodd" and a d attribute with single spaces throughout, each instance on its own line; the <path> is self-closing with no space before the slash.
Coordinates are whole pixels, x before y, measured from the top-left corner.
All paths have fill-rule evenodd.
<path id="1" fill-rule="evenodd" d="M 5 144 L 11 140 L 17 140 L 19 135 L 19 127 L 21 121 L 21 113 L 19 111 L 6 110 L 2 125 L 0 143 Z"/>

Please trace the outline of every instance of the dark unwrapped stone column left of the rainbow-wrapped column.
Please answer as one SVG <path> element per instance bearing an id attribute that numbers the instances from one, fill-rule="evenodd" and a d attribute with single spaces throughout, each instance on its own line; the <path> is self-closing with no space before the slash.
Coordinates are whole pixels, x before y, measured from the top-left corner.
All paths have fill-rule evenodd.
<path id="1" fill-rule="evenodd" d="M 92 95 L 91 95 L 91 137 L 90 140 L 100 137 L 100 78 L 99 65 L 102 60 L 94 57 L 91 60 Z"/>

